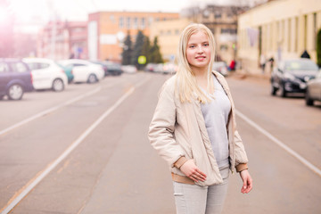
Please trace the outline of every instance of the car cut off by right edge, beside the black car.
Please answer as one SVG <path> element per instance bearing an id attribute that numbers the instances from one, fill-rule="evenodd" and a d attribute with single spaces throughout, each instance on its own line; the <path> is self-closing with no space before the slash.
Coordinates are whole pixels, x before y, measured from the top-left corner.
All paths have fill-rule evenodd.
<path id="1" fill-rule="evenodd" d="M 305 101 L 307 105 L 313 105 L 315 101 L 321 101 L 321 70 L 318 71 L 316 78 L 309 80 Z"/>

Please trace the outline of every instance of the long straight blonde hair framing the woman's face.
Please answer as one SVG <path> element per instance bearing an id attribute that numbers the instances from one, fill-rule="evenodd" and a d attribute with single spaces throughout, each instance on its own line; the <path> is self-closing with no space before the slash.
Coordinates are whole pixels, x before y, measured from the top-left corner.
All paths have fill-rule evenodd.
<path id="1" fill-rule="evenodd" d="M 215 58 L 215 40 L 212 32 L 203 24 L 192 23 L 189 24 L 182 32 L 178 51 L 177 51 L 177 61 L 178 61 L 178 70 L 177 70 L 177 95 L 182 103 L 192 102 L 194 95 L 196 99 L 201 103 L 210 102 L 210 99 L 207 95 L 202 92 L 202 89 L 197 85 L 195 73 L 193 72 L 190 64 L 186 58 L 186 49 L 187 43 L 190 37 L 199 31 L 205 33 L 209 38 L 210 44 L 210 63 L 207 71 L 208 76 L 208 87 L 207 91 L 210 92 L 210 86 L 212 86 L 212 76 L 211 70 Z"/>

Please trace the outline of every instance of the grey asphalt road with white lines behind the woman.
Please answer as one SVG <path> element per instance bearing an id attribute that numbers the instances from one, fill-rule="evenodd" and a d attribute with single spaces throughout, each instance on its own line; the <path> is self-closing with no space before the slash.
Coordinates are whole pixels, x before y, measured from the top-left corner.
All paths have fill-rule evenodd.
<path id="1" fill-rule="evenodd" d="M 175 213 L 168 166 L 147 130 L 166 75 L 137 73 L 0 102 L 0 210 Z M 231 175 L 224 212 L 321 213 L 321 105 L 227 78 L 254 188 Z"/>

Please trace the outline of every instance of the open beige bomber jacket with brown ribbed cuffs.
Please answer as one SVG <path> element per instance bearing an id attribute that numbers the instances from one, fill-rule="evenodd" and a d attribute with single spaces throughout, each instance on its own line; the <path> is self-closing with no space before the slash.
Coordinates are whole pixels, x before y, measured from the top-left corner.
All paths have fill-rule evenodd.
<path id="1" fill-rule="evenodd" d="M 236 129 L 235 104 L 226 79 L 216 71 L 213 73 L 223 86 L 232 105 L 226 126 L 230 169 L 232 172 L 234 168 L 236 171 L 241 171 L 247 169 L 248 159 Z M 191 103 L 181 103 L 175 93 L 175 86 L 176 76 L 169 78 L 161 88 L 159 102 L 149 128 L 150 142 L 168 162 L 174 181 L 193 184 L 193 180 L 185 177 L 179 169 L 185 161 L 193 159 L 196 166 L 207 175 L 204 182 L 199 181 L 195 183 L 196 185 L 220 184 L 223 180 L 205 127 L 201 103 L 196 99 Z"/>

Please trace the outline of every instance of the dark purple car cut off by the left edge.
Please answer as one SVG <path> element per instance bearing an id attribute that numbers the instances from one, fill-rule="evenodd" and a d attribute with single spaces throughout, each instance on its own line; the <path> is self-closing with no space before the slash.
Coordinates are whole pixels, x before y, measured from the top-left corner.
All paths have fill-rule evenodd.
<path id="1" fill-rule="evenodd" d="M 32 74 L 28 65 L 18 59 L 0 59 L 0 100 L 21 100 L 24 92 L 32 91 Z"/>

